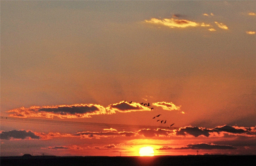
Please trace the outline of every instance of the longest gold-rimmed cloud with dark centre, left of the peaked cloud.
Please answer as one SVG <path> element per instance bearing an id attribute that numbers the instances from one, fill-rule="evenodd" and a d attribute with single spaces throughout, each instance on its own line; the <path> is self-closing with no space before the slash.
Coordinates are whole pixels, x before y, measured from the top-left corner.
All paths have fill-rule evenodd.
<path id="1" fill-rule="evenodd" d="M 59 106 L 32 106 L 30 108 L 18 108 L 7 111 L 10 116 L 18 118 L 44 117 L 44 118 L 88 118 L 91 115 L 110 114 L 101 105 L 96 104 L 75 104 Z"/>

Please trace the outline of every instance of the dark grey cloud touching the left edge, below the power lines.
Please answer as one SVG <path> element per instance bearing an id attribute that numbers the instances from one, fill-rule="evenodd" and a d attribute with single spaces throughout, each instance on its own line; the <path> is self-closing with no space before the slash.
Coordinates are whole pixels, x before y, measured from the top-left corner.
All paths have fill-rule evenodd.
<path id="1" fill-rule="evenodd" d="M 1 131 L 0 139 L 10 140 L 10 139 L 40 139 L 38 135 L 32 131 L 26 130 L 11 130 L 11 131 Z"/>

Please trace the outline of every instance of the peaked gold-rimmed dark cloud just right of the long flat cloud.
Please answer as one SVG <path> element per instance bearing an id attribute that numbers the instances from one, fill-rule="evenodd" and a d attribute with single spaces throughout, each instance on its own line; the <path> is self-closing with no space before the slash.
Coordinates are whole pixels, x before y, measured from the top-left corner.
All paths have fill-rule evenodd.
<path id="1" fill-rule="evenodd" d="M 109 105 L 106 110 L 108 112 L 133 112 L 133 111 L 150 111 L 150 108 L 144 107 L 140 103 L 128 103 L 126 101 L 121 101 L 116 104 Z"/>

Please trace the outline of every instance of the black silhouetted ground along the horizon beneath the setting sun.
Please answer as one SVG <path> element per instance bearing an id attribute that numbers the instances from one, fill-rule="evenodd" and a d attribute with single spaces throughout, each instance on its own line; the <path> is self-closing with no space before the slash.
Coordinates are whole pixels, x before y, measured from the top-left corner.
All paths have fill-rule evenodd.
<path id="1" fill-rule="evenodd" d="M 256 156 L 152 156 L 152 157 L 58 157 L 58 156 L 13 156 L 0 157 L 0 165 L 256 165 Z"/>

